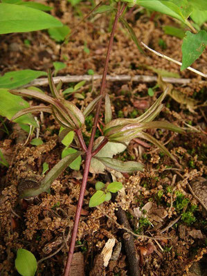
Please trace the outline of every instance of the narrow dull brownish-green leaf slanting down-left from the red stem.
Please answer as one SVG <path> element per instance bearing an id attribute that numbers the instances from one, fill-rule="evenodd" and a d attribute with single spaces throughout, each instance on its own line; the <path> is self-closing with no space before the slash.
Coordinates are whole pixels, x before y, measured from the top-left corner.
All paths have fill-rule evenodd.
<path id="1" fill-rule="evenodd" d="M 44 176 L 39 187 L 25 190 L 22 194 L 20 194 L 20 198 L 25 199 L 27 197 L 37 196 L 42 192 L 48 191 L 55 179 L 57 179 L 57 177 L 64 172 L 64 169 L 66 169 L 66 167 L 68 167 L 81 154 L 83 154 L 82 151 L 76 151 L 74 154 L 69 154 L 64 157 L 53 167 L 53 169 L 50 170 L 50 172 L 48 172 L 48 174 L 46 174 L 46 176 Z"/>

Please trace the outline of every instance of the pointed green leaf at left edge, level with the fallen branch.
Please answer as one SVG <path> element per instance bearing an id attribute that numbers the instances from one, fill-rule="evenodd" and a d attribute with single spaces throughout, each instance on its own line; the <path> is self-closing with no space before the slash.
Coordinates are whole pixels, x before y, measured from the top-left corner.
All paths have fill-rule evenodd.
<path id="1" fill-rule="evenodd" d="M 46 72 L 34 70 L 20 70 L 8 72 L 5 73 L 3 77 L 0 77 L 0 88 L 15 89 L 19 86 L 28 84 L 29 82 L 35 80 L 37 77 L 40 77 L 41 75 L 46 75 Z"/>

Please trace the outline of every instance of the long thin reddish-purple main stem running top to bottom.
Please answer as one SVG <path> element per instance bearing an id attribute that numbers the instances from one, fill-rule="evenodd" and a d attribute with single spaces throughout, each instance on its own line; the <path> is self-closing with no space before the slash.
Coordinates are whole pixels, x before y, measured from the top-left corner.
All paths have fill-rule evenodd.
<path id="1" fill-rule="evenodd" d="M 107 79 L 107 70 L 108 70 L 108 66 L 109 66 L 109 57 L 110 57 L 111 48 L 112 48 L 112 44 L 113 44 L 113 41 L 114 41 L 114 33 L 115 33 L 115 30 L 116 30 L 116 26 L 118 24 L 118 18 L 119 17 L 120 17 L 120 2 L 118 2 L 116 17 L 114 19 L 113 28 L 111 30 L 111 36 L 110 36 L 110 39 L 109 39 L 109 45 L 108 45 L 108 48 L 107 48 L 107 55 L 106 55 L 106 59 L 105 59 L 105 67 L 104 67 L 104 71 L 103 71 L 103 74 L 102 74 L 102 83 L 101 83 L 101 86 L 100 86 L 100 95 L 104 95 L 104 91 L 105 91 L 105 85 L 106 85 L 106 79 Z M 80 221 L 80 212 L 81 212 L 81 208 L 82 208 L 82 202 L 83 202 L 83 199 L 84 199 L 84 192 L 85 192 L 85 189 L 86 189 L 86 186 L 87 186 L 87 179 L 88 179 L 88 175 L 89 175 L 89 167 L 90 167 L 91 158 L 92 158 L 93 142 L 94 142 L 94 139 L 95 139 L 95 134 L 96 134 L 96 128 L 97 128 L 97 124 L 98 124 L 98 118 L 99 118 L 101 103 L 102 103 L 102 98 L 100 99 L 100 102 L 98 103 L 98 107 L 96 108 L 95 118 L 93 120 L 91 138 L 90 138 L 90 141 L 89 141 L 89 147 L 87 149 L 87 156 L 86 156 L 86 162 L 85 162 L 85 167 L 84 167 L 84 174 L 83 174 L 83 178 L 82 178 L 82 185 L 81 185 L 80 195 L 79 195 L 79 199 L 78 199 L 78 206 L 77 206 L 77 210 L 76 210 L 76 213 L 75 213 L 75 221 L 74 221 L 74 225 L 73 225 L 71 244 L 70 244 L 69 255 L 68 255 L 65 270 L 64 270 L 64 276 L 69 276 L 69 272 L 70 272 L 70 268 L 71 268 L 71 262 L 72 262 L 72 258 L 73 258 L 73 251 L 74 251 L 74 248 L 75 248 L 75 239 L 77 237 L 77 232 L 78 232 L 78 223 Z"/>

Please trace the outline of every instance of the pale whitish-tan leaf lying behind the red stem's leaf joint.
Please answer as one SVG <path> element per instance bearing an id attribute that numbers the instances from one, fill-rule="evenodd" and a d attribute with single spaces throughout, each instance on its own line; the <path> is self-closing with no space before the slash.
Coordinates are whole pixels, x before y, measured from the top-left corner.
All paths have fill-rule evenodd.
<path id="1" fill-rule="evenodd" d="M 96 148 L 100 142 L 103 140 L 103 137 L 100 136 L 95 141 L 95 147 Z M 107 142 L 107 145 L 105 145 L 99 152 L 96 154 L 98 157 L 113 157 L 116 154 L 120 154 L 120 152 L 125 151 L 126 145 L 119 144 L 117 142 Z M 91 166 L 90 166 L 90 172 L 93 174 L 103 174 L 105 171 L 105 165 L 102 164 L 99 160 L 92 158 L 91 160 Z"/>

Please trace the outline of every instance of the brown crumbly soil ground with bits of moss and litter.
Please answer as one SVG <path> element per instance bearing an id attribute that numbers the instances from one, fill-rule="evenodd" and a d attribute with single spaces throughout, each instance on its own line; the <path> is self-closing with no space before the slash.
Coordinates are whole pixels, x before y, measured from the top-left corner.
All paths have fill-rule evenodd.
<path id="1" fill-rule="evenodd" d="M 85 75 L 89 69 L 102 74 L 111 29 L 110 15 L 89 17 L 78 26 L 82 17 L 90 11 L 89 2 L 83 2 L 75 8 L 66 0 L 42 2 L 54 6 L 51 14 L 75 30 L 75 33 L 66 45 L 55 42 L 47 31 L 2 36 L 1 73 L 27 68 L 46 71 L 53 66 L 53 62 L 65 62 L 66 68 L 58 72 L 58 75 Z M 163 26 L 179 26 L 178 23 L 156 13 L 150 16 L 146 12 L 135 11 L 129 10 L 125 18 L 133 27 L 138 40 L 181 61 L 181 39 L 165 35 L 163 31 Z M 29 45 L 25 44 L 26 39 L 30 42 Z M 206 53 L 201 55 L 193 67 L 207 73 Z M 153 68 L 168 71 L 170 76 L 178 74 L 178 77 L 191 79 L 186 85 L 174 84 L 174 89 L 179 91 L 177 96 L 172 98 L 168 95 L 165 98 L 165 107 L 156 118 L 168 120 L 182 127 L 186 133 L 174 134 L 163 129 L 147 131 L 163 142 L 177 158 L 177 163 L 155 146 L 134 139 L 127 150 L 116 158 L 141 161 L 145 165 L 144 172 L 130 175 L 111 171 L 89 174 L 75 247 L 75 272 L 71 272 L 73 276 L 84 275 L 83 270 L 85 275 L 130 276 L 129 256 L 122 244 L 122 229 L 116 223 L 118 208 L 127 214 L 134 233 L 141 275 L 207 275 L 204 265 L 207 251 L 206 210 L 195 198 L 195 195 L 198 196 L 207 205 L 206 114 L 202 106 L 206 82 L 195 73 L 179 71 L 179 66 L 150 52 L 142 55 L 127 30 L 118 24 L 108 74 L 156 75 Z M 106 91 L 111 98 L 113 118 L 135 118 L 141 115 L 162 92 L 156 88 L 150 97 L 147 91 L 155 85 L 155 82 L 107 82 Z M 62 89 L 69 86 L 73 84 L 64 84 Z M 99 89 L 100 81 L 88 82 L 78 91 L 83 95 L 82 98 L 73 94 L 68 99 L 83 108 L 96 98 Z M 48 87 L 44 86 L 42 90 L 48 92 Z M 184 96 L 179 96 L 179 93 Z M 183 97 L 195 101 L 189 107 L 189 99 L 184 101 Z M 32 99 L 29 102 L 30 105 L 37 104 Z M 104 113 L 104 107 L 101 113 Z M 97 135 L 101 135 L 101 125 L 104 123 L 102 117 Z M 64 148 L 58 138 L 60 125 L 53 116 L 45 114 L 44 118 L 40 119 L 39 115 L 37 118 L 41 122 L 39 135 L 44 141 L 39 146 L 30 145 L 29 142 L 24 145 L 28 134 L 18 125 L 8 121 L 1 124 L 1 129 L 6 125 L 9 134 L 0 130 L 0 149 L 10 163 L 9 169 L 0 167 L 2 276 L 18 275 L 14 265 L 18 248 L 30 250 L 40 261 L 37 275 L 61 275 L 69 249 L 82 167 L 79 171 L 66 169 L 53 183 L 51 194 L 43 193 L 30 200 L 18 199 L 17 185 L 24 185 L 24 181 L 31 176 L 38 183 L 39 177 L 42 177 L 43 163 L 48 163 L 51 169 L 61 159 L 60 153 Z M 92 120 L 92 116 L 89 117 L 87 128 L 84 129 L 86 140 L 89 140 Z M 31 138 L 35 138 L 35 134 Z M 123 191 L 118 193 L 113 202 L 102 203 L 99 208 L 89 208 L 95 183 L 110 182 L 111 176 L 123 183 Z M 154 237 L 159 238 L 153 239 Z M 122 248 L 105 268 L 98 256 L 111 238 L 116 241 L 116 251 L 121 244 Z"/>

